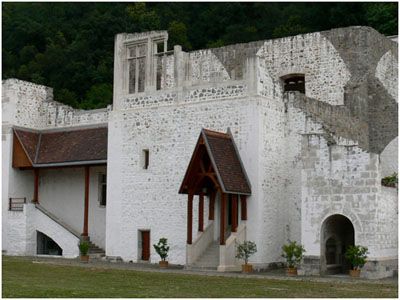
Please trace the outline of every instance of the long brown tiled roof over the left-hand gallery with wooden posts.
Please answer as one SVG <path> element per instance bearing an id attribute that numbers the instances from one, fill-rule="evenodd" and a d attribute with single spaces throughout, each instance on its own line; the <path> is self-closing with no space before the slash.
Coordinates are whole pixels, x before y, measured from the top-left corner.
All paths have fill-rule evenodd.
<path id="1" fill-rule="evenodd" d="M 33 167 L 87 165 L 107 161 L 107 127 L 14 133 Z"/>

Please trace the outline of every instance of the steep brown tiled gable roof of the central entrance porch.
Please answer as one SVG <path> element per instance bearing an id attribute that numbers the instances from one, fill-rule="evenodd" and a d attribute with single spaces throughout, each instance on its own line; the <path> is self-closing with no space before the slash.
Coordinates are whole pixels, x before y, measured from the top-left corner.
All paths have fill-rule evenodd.
<path id="1" fill-rule="evenodd" d="M 198 153 L 201 151 L 202 143 L 205 145 L 222 191 L 229 194 L 250 195 L 250 182 L 229 129 L 227 133 L 208 129 L 201 130 L 179 193 L 188 193 L 187 187 L 194 180 L 191 177 L 194 174 L 193 168 L 196 167 L 196 160 L 199 159 Z"/>

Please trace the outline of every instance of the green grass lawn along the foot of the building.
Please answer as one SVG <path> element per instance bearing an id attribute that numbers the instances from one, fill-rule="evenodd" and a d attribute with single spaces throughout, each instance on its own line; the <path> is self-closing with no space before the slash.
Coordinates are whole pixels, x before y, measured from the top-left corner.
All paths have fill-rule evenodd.
<path id="1" fill-rule="evenodd" d="M 397 297 L 396 284 L 229 278 L 32 263 L 3 256 L 3 297 Z"/>

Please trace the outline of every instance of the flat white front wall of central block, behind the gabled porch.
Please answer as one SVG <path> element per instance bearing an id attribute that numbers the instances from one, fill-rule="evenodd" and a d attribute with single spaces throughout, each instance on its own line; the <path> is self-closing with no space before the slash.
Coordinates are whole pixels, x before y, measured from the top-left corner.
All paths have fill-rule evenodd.
<path id="1" fill-rule="evenodd" d="M 257 106 L 252 99 L 113 111 L 108 149 L 111 200 L 107 207 L 107 255 L 135 261 L 138 230 L 150 229 L 151 243 L 168 238 L 169 260 L 184 264 L 187 196 L 179 195 L 178 190 L 200 130 L 226 132 L 230 127 L 250 181 L 256 182 L 258 175 L 251 170 L 257 169 L 257 156 L 249 158 L 246 154 L 252 147 L 258 151 L 256 119 Z M 142 149 L 150 150 L 147 170 L 140 165 Z M 197 207 L 196 198 L 194 233 Z M 151 249 L 151 260 L 158 259 Z"/>

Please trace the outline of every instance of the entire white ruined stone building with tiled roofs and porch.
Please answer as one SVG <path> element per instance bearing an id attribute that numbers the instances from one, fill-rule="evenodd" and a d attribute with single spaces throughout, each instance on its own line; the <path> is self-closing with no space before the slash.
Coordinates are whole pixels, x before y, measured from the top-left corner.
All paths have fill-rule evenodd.
<path id="1" fill-rule="evenodd" d="M 3 251 L 256 269 L 303 244 L 304 274 L 397 271 L 398 46 L 349 27 L 167 51 L 166 31 L 115 38 L 113 104 L 80 111 L 3 81 Z"/>

